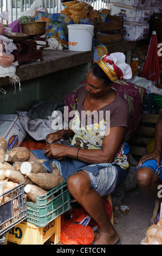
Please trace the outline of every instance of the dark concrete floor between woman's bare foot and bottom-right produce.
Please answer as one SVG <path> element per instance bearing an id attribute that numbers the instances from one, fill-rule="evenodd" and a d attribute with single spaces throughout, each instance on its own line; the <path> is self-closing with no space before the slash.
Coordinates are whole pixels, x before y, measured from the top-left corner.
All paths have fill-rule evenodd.
<path id="1" fill-rule="evenodd" d="M 144 194 L 138 186 L 125 192 L 121 205 L 128 206 L 128 213 L 113 211 L 114 228 L 120 235 L 121 245 L 140 245 L 149 227 L 154 203 L 155 199 Z"/>

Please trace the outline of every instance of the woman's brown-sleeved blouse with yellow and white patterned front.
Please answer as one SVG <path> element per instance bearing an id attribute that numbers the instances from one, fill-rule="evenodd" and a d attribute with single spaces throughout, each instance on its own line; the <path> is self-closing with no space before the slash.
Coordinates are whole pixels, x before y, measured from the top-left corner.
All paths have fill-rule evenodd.
<path id="1" fill-rule="evenodd" d="M 98 111 L 86 115 L 83 102 L 87 95 L 85 86 L 78 90 L 76 102 L 77 110 L 71 121 L 74 137 L 72 146 L 82 149 L 101 149 L 105 132 L 109 132 L 110 127 L 128 126 L 128 108 L 121 97 L 116 94 L 113 102 Z M 121 168 L 128 168 L 127 154 L 129 145 L 123 142 L 113 163 L 119 164 Z"/>

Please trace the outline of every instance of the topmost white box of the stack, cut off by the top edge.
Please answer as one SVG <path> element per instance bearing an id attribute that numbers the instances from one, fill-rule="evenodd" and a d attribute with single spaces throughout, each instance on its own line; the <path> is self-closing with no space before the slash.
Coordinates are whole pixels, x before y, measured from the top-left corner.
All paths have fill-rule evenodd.
<path id="1" fill-rule="evenodd" d="M 143 8 L 143 7 L 150 7 L 151 1 L 152 0 L 111 0 L 110 3 Z"/>

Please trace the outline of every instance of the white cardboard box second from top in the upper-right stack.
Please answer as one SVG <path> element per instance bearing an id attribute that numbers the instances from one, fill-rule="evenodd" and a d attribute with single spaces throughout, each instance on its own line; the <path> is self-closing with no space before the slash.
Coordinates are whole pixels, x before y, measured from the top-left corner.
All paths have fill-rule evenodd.
<path id="1" fill-rule="evenodd" d="M 136 8 L 128 5 L 113 4 L 111 15 L 120 15 L 125 22 L 147 23 L 150 20 L 150 8 Z"/>

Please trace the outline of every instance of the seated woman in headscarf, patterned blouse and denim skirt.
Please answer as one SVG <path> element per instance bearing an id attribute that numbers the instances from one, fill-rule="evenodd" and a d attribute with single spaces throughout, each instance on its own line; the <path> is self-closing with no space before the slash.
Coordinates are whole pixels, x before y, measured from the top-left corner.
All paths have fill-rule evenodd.
<path id="1" fill-rule="evenodd" d="M 49 172 L 55 162 L 63 178 L 68 178 L 70 194 L 98 223 L 100 232 L 95 244 L 100 245 L 120 244 L 101 197 L 112 193 L 128 173 L 129 147 L 124 142 L 128 108 L 111 87 L 113 81 L 131 76 L 123 53 L 103 56 L 93 64 L 85 86 L 77 92 L 72 123 L 67 129 L 49 134 L 46 149 L 33 150 L 30 159 L 47 159 L 43 166 Z M 74 136 L 71 146 L 56 143 L 69 136 Z"/>

